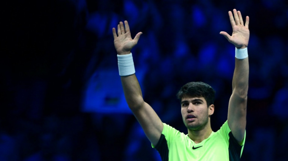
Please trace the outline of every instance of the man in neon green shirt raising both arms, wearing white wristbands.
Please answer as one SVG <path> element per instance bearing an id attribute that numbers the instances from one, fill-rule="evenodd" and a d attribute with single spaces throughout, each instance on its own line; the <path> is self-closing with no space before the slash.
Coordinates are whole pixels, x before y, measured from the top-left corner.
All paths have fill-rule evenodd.
<path id="1" fill-rule="evenodd" d="M 245 24 L 240 11 L 228 12 L 233 33 L 230 36 L 221 31 L 226 39 L 235 45 L 235 69 L 233 92 L 228 105 L 227 121 L 213 132 L 210 116 L 214 113 L 215 91 L 203 82 L 184 85 L 177 96 L 181 101 L 181 114 L 188 134 L 180 133 L 162 123 L 158 115 L 142 98 L 141 88 L 135 75 L 131 49 L 142 32 L 131 38 L 127 21 L 113 28 L 114 45 L 118 53 L 119 75 L 129 108 L 142 126 L 147 138 L 161 155 L 162 160 L 239 160 L 245 142 L 246 105 L 248 92 L 249 63 L 247 46 L 249 42 L 249 17 Z"/>

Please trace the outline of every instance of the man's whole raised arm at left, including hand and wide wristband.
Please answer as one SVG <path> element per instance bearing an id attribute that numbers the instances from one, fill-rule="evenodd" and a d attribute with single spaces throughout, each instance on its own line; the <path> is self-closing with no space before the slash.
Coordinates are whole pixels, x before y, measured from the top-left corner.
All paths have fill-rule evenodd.
<path id="1" fill-rule="evenodd" d="M 117 26 L 118 36 L 116 29 L 112 29 L 124 95 L 129 108 L 142 126 L 146 136 L 153 145 L 156 145 L 163 130 L 163 123 L 152 107 L 143 100 L 141 88 L 135 75 L 134 64 L 131 61 L 132 55 L 129 55 L 142 32 L 136 34 L 135 38 L 132 39 L 128 22 L 124 21 L 124 23 L 125 27 L 123 22 Z M 127 66 L 129 67 L 127 68 Z"/>

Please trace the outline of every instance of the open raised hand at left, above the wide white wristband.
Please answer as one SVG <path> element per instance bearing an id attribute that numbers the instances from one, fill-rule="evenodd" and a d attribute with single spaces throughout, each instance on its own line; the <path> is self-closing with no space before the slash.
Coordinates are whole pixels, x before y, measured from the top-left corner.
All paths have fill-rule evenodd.
<path id="1" fill-rule="evenodd" d="M 129 25 L 127 21 L 124 21 L 125 28 L 123 22 L 120 22 L 117 26 L 118 36 L 116 34 L 116 29 L 113 27 L 113 37 L 114 37 L 114 46 L 119 55 L 129 54 L 131 49 L 137 44 L 140 35 L 142 32 L 136 34 L 134 39 L 131 38 L 131 33 L 129 29 Z"/>

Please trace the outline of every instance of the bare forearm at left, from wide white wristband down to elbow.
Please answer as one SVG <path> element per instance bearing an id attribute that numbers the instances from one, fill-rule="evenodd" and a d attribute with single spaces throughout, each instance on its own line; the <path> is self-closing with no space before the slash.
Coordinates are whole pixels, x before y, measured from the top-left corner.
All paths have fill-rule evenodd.
<path id="1" fill-rule="evenodd" d="M 129 108 L 139 108 L 143 103 L 142 91 L 135 74 L 121 76 L 124 95 Z"/>

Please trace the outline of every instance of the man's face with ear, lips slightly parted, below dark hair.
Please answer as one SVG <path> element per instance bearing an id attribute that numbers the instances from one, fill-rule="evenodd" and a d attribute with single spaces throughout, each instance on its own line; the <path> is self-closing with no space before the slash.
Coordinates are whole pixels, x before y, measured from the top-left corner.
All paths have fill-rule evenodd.
<path id="1" fill-rule="evenodd" d="M 209 121 L 209 115 L 214 112 L 214 105 L 207 107 L 204 97 L 183 97 L 181 101 L 181 114 L 185 126 L 189 130 L 203 129 Z"/>

